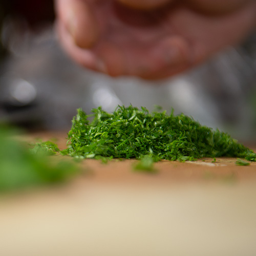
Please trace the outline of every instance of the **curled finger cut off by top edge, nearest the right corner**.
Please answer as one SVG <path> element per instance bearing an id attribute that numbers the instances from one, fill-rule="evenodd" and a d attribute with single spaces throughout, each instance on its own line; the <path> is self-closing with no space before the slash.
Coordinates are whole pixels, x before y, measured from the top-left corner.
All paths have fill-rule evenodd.
<path id="1" fill-rule="evenodd" d="M 232 12 L 251 1 L 254 0 L 186 0 L 194 9 L 214 14 Z"/>

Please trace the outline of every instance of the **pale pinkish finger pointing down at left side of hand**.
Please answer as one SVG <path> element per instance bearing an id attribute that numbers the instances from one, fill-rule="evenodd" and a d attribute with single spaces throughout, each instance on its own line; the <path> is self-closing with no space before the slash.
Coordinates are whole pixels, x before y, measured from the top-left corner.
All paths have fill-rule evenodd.
<path id="1" fill-rule="evenodd" d="M 88 1 L 57 0 L 56 11 L 77 46 L 90 48 L 96 44 L 99 29 Z"/>

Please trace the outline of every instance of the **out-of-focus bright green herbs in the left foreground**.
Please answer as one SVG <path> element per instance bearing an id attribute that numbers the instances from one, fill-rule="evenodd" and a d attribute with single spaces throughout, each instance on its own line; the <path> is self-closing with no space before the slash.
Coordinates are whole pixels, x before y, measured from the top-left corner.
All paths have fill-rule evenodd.
<path id="1" fill-rule="evenodd" d="M 44 151 L 29 150 L 13 135 L 16 131 L 10 127 L 0 127 L 0 193 L 61 183 L 77 173 L 77 166 L 70 161 L 54 163 Z"/>

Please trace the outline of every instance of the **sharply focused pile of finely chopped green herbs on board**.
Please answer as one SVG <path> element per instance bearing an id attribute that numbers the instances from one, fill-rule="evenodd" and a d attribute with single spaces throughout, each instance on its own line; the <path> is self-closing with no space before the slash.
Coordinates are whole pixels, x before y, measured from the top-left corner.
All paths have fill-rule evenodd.
<path id="1" fill-rule="evenodd" d="M 136 158 L 154 161 L 195 160 L 203 157 L 239 157 L 256 161 L 256 154 L 228 134 L 213 131 L 194 119 L 164 112 L 148 112 L 132 105 L 114 113 L 93 109 L 94 119 L 78 109 L 68 133 L 67 150 L 77 158 Z"/>

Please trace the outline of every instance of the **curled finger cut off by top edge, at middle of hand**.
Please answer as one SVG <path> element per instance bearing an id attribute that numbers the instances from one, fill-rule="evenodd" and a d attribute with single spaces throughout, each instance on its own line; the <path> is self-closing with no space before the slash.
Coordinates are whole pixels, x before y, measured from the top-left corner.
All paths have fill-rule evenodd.
<path id="1" fill-rule="evenodd" d="M 161 7 L 173 0 L 117 0 L 118 2 L 135 9 L 150 10 Z"/>

